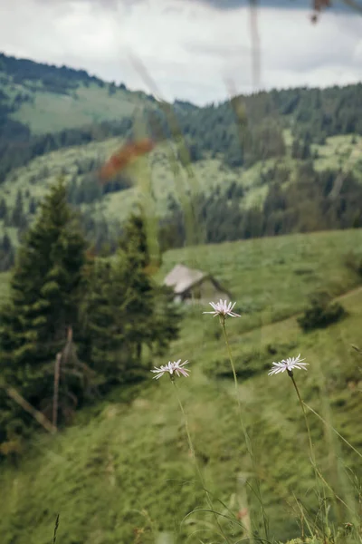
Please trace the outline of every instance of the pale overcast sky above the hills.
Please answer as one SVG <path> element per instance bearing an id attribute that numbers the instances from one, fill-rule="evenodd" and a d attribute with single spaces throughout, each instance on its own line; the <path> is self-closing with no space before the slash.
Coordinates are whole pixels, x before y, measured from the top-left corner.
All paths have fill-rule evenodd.
<path id="1" fill-rule="evenodd" d="M 260 87 L 362 81 L 362 16 L 345 8 L 311 24 L 310 4 L 259 7 Z M 150 92 L 133 53 L 167 100 L 218 102 L 230 80 L 251 92 L 251 35 L 245 0 L 0 0 L 0 51 Z"/>

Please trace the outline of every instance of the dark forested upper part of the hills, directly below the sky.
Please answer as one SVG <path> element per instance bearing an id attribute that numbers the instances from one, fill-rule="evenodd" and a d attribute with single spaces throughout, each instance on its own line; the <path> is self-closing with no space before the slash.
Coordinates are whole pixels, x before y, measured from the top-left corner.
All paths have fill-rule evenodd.
<path id="1" fill-rule="evenodd" d="M 1 54 L 0 78 L 1 140 L 3 146 L 10 141 L 26 141 L 23 151 L 17 150 L 17 155 L 24 155 L 22 160 L 63 146 L 104 139 L 117 131 L 124 133 L 129 127 L 128 123 L 125 125 L 121 121 L 125 117 L 131 118 L 136 106 L 159 111 L 155 99 L 143 92 L 129 92 L 125 85 L 104 83 L 84 71 L 65 66 L 56 68 Z M 86 91 L 90 92 L 90 87 L 93 89 L 94 86 L 101 98 L 97 95 L 93 102 L 88 103 L 90 98 Z M 210 151 L 213 155 L 222 153 L 225 162 L 231 166 L 250 166 L 255 160 L 284 154 L 281 131 L 286 127 L 291 128 L 295 152 L 301 155 L 308 152 L 310 143 L 324 143 L 329 136 L 361 134 L 361 91 L 362 85 L 357 84 L 325 90 L 303 88 L 258 92 L 205 108 L 176 102 L 174 112 L 179 130 L 192 146 L 193 160 Z M 48 95 L 58 101 L 53 102 L 49 109 L 46 106 Z M 71 102 L 64 102 L 64 97 Z M 88 118 L 87 115 L 74 115 L 72 101 L 84 108 L 84 115 L 88 112 Z M 100 111 L 100 105 L 105 108 L 103 111 Z M 68 116 L 64 116 L 63 110 L 68 112 Z M 63 131 L 57 131 L 56 115 L 62 116 Z M 43 117 L 41 127 L 39 119 Z M 171 135 L 167 128 L 169 119 L 165 119 L 165 114 L 161 117 L 158 121 L 164 134 Z M 101 131 L 94 131 L 94 126 L 93 131 L 83 128 L 106 120 L 113 122 L 106 123 Z M 239 121 L 239 127 L 235 121 Z M 240 131 L 240 125 L 243 131 Z M 80 127 L 82 130 L 77 135 L 69 131 Z M 49 132 L 55 133 L 52 138 Z M 43 138 L 39 140 L 41 134 Z M 35 136 L 38 139 L 34 140 Z M 15 165 L 10 160 L 8 168 Z"/>

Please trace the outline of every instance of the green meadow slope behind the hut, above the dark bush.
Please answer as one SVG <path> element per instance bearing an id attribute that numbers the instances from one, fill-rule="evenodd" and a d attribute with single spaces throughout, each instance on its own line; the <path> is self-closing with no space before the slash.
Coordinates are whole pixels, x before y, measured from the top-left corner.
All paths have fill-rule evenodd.
<path id="1" fill-rule="evenodd" d="M 173 249 L 158 277 L 177 263 L 211 273 L 243 309 L 239 329 L 250 328 L 300 312 L 320 288 L 337 296 L 356 287 L 358 277 L 344 265 L 353 250 L 362 250 L 361 229 Z"/>

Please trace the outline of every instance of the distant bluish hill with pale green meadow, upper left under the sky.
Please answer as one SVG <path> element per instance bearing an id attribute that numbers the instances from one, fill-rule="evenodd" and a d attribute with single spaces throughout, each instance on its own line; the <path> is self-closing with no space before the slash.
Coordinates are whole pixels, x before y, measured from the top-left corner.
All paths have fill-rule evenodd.
<path id="1" fill-rule="evenodd" d="M 0 99 L 8 116 L 33 134 L 129 117 L 149 98 L 85 71 L 58 68 L 0 54 Z"/>

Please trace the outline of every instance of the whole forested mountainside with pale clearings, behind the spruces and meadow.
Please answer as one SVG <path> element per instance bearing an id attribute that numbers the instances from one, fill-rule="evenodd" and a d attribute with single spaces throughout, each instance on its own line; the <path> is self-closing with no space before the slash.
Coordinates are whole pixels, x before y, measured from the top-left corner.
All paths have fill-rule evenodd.
<path id="1" fill-rule="evenodd" d="M 104 160 L 143 135 L 157 141 L 148 163 L 101 186 Z M 117 245 L 121 222 L 145 188 L 162 248 L 357 228 L 361 135 L 360 83 L 258 92 L 200 108 L 1 54 L 0 268 L 11 266 L 58 175 L 98 249 Z M 186 216 L 194 218 L 191 238 Z"/>

